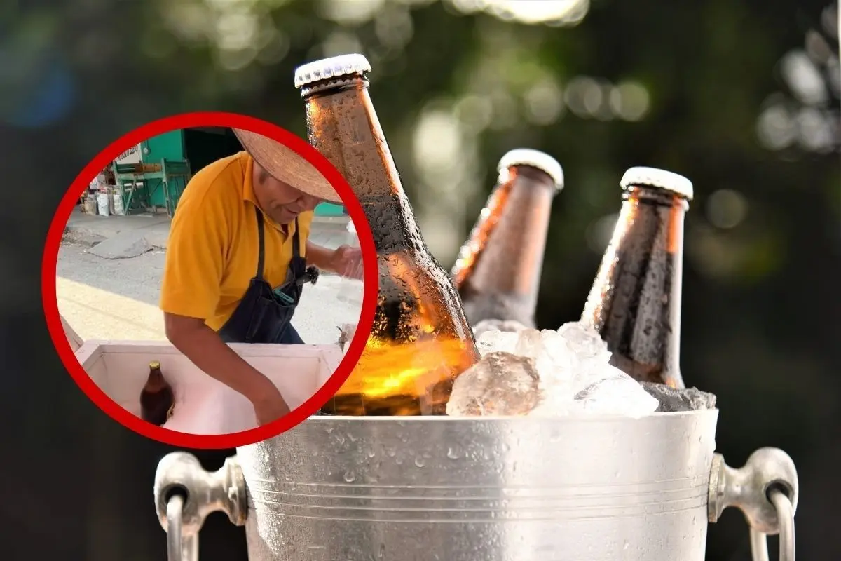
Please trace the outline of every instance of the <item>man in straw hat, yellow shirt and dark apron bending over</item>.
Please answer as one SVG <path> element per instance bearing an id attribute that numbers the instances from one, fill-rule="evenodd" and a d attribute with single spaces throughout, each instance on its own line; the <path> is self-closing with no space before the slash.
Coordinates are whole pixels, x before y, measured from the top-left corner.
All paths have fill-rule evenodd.
<path id="1" fill-rule="evenodd" d="M 225 342 L 299 344 L 291 325 L 308 265 L 362 278 L 361 255 L 308 241 L 313 210 L 341 198 L 286 146 L 234 130 L 245 151 L 215 161 L 182 193 L 167 247 L 161 310 L 167 339 L 251 400 L 264 425 L 289 412 L 278 389 Z"/>

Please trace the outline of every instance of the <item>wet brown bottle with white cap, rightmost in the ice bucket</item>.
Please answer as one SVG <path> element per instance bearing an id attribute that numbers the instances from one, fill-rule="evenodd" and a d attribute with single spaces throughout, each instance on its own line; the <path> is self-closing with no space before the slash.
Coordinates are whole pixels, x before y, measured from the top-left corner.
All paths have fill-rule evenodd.
<path id="1" fill-rule="evenodd" d="M 581 320 L 600 332 L 616 368 L 640 382 L 681 389 L 683 230 L 692 183 L 632 167 L 621 188 L 619 220 Z"/>

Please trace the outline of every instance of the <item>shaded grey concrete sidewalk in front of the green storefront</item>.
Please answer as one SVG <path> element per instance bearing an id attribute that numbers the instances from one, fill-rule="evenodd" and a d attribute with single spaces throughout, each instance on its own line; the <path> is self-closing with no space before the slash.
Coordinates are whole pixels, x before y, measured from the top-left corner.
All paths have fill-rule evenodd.
<path id="1" fill-rule="evenodd" d="M 335 249 L 349 240 L 349 216 L 316 216 L 309 241 Z M 167 214 L 132 214 L 130 216 L 93 216 L 73 209 L 63 241 L 86 246 L 104 259 L 127 259 L 146 251 L 166 250 L 170 218 Z"/>

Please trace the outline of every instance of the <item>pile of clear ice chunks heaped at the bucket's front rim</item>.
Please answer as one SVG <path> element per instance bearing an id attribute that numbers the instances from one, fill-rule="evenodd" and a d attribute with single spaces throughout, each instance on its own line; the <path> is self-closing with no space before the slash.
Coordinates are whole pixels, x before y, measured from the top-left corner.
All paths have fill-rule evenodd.
<path id="1" fill-rule="evenodd" d="M 578 321 L 558 331 L 505 322 L 475 332 L 482 360 L 456 378 L 447 415 L 639 417 L 658 410 L 655 397 L 611 366 L 599 334 Z"/>

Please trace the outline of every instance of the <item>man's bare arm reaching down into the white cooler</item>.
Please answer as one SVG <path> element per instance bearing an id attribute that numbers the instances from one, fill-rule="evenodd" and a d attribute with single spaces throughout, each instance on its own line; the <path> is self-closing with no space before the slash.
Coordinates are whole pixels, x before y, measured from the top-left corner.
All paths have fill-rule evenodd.
<path id="1" fill-rule="evenodd" d="M 278 389 L 272 381 L 225 345 L 204 320 L 164 312 L 164 326 L 175 348 L 211 378 L 245 395 L 255 410 L 277 400 Z M 285 413 L 288 407 L 280 411 Z"/>

